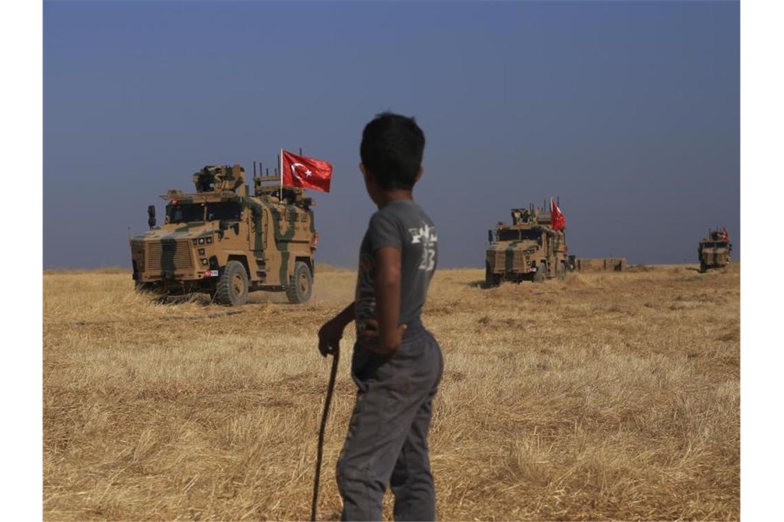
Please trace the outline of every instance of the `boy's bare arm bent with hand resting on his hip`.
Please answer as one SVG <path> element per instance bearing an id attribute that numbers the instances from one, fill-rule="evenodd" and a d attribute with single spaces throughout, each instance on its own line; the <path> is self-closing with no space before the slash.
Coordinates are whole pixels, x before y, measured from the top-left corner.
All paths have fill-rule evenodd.
<path id="1" fill-rule="evenodd" d="M 391 355 L 403 340 L 406 326 L 400 322 L 401 251 L 396 247 L 376 250 L 376 317 L 378 329 L 366 330 L 365 337 L 376 337 L 376 353 Z M 372 321 L 368 321 L 372 322 Z M 370 326 L 370 325 L 368 325 Z"/>

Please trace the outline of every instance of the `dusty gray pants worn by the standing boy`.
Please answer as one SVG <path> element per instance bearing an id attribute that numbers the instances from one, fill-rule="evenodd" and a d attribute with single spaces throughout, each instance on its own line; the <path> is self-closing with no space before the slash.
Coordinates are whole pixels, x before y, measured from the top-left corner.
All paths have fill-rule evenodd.
<path id="1" fill-rule="evenodd" d="M 354 345 L 357 404 L 337 465 L 342 520 L 381 520 L 387 486 L 395 520 L 435 520 L 427 430 L 443 371 L 441 347 L 419 321 L 389 358 Z"/>

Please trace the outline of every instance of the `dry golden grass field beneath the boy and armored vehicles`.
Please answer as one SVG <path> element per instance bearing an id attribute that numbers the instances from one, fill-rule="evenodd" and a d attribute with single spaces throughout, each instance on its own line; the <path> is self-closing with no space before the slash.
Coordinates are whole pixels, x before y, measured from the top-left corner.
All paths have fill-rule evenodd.
<path id="1" fill-rule="evenodd" d="M 437 272 L 438 517 L 738 519 L 738 268 L 492 290 L 482 270 Z M 304 305 L 256 293 L 229 309 L 161 304 L 105 272 L 43 275 L 45 520 L 307 519 L 330 364 L 316 332 L 354 273 L 317 273 Z M 352 340 L 321 481 L 333 520 Z"/>

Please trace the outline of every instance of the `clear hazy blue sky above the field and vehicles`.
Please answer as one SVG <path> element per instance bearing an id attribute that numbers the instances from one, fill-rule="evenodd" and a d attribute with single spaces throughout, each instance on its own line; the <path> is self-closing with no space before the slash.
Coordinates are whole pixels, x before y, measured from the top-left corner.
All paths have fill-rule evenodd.
<path id="1" fill-rule="evenodd" d="M 425 131 L 441 266 L 550 196 L 582 257 L 726 225 L 739 258 L 738 2 L 45 2 L 44 265 L 129 265 L 159 194 L 281 146 L 334 165 L 318 261 L 354 265 L 382 110 Z"/>

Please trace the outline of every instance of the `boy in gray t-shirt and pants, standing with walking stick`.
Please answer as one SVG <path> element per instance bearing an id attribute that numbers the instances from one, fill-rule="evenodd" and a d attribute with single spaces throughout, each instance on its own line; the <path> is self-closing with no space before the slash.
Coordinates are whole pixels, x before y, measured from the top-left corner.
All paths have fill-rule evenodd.
<path id="1" fill-rule="evenodd" d="M 337 465 L 343 520 L 381 520 L 387 486 L 395 520 L 435 520 L 427 430 L 444 362 L 419 319 L 437 262 L 433 221 L 412 199 L 424 147 L 413 118 L 382 113 L 365 126 L 359 169 L 379 211 L 360 247 L 354 303 L 318 332 L 321 355 L 335 353 L 356 322 L 357 402 Z"/>

